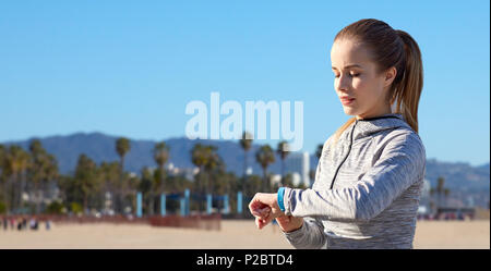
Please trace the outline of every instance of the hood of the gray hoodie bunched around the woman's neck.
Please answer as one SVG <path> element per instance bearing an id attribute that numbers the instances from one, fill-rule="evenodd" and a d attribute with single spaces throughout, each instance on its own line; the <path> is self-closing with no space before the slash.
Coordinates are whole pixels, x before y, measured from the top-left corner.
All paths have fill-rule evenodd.
<path id="1" fill-rule="evenodd" d="M 363 120 L 357 120 L 354 139 L 360 139 L 367 136 L 373 136 L 376 133 L 386 130 L 395 130 L 406 127 L 412 130 L 409 124 L 406 123 L 403 114 L 390 113 L 376 118 L 369 118 Z"/>

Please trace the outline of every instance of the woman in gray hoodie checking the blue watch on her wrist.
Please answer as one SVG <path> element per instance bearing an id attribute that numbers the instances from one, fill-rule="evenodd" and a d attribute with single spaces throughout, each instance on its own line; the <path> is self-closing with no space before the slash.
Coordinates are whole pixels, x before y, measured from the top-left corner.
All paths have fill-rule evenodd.
<path id="1" fill-rule="evenodd" d="M 280 187 L 249 205 L 296 248 L 412 248 L 426 150 L 416 41 L 378 20 L 343 28 L 331 50 L 334 88 L 354 115 L 324 144 L 311 189 Z"/>

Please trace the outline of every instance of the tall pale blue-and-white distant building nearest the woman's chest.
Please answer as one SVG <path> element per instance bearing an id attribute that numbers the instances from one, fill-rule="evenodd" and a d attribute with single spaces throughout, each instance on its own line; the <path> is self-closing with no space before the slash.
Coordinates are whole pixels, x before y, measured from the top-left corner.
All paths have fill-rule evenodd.
<path id="1" fill-rule="evenodd" d="M 309 152 L 290 152 L 285 159 L 285 174 L 291 173 L 294 176 L 294 184 L 303 183 L 307 187 L 310 186 L 310 155 Z M 296 176 L 297 173 L 299 176 Z M 296 183 L 297 182 L 297 183 Z"/>

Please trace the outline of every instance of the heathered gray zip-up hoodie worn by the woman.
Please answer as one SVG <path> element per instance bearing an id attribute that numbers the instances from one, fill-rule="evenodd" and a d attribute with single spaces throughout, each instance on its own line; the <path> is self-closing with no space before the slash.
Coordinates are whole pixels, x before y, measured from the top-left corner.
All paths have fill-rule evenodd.
<path id="1" fill-rule="evenodd" d="M 357 120 L 328 138 L 311 189 L 286 188 L 285 212 L 303 225 L 296 248 L 412 248 L 426 150 L 402 114 Z"/>

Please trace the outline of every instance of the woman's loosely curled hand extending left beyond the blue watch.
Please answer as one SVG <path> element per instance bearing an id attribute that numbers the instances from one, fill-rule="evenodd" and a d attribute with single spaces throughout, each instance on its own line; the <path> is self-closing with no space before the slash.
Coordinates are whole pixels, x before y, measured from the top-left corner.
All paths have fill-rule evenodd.
<path id="1" fill-rule="evenodd" d="M 263 229 L 274 219 L 285 215 L 279 209 L 276 193 L 256 193 L 249 204 L 249 210 L 255 217 L 255 224 Z"/>

